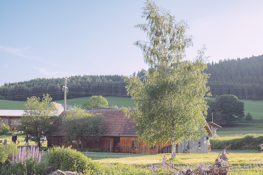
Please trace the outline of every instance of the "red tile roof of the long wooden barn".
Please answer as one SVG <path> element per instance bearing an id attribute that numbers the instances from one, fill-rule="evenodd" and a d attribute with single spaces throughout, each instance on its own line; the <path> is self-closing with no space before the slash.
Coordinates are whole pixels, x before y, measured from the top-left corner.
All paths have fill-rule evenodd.
<path id="1" fill-rule="evenodd" d="M 103 136 L 136 136 L 136 123 L 132 119 L 125 116 L 120 109 L 99 109 L 99 110 L 86 110 L 91 113 L 101 113 L 104 120 Z M 67 112 L 61 113 L 60 117 Z M 64 135 L 60 129 L 60 121 L 57 120 L 53 125 L 57 126 L 54 129 L 53 135 Z"/>

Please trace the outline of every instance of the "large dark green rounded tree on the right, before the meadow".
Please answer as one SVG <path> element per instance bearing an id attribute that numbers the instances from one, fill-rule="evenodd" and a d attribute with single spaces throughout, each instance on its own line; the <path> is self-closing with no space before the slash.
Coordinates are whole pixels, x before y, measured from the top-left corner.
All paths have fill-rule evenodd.
<path id="1" fill-rule="evenodd" d="M 231 126 L 245 117 L 244 103 L 239 101 L 235 95 L 220 95 L 218 98 L 222 108 L 222 125 Z"/>

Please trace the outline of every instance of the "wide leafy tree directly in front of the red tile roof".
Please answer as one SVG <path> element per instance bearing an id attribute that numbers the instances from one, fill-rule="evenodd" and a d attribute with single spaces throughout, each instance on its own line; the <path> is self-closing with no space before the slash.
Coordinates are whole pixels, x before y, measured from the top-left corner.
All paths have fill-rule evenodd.
<path id="1" fill-rule="evenodd" d="M 65 132 L 65 141 L 75 141 L 83 149 L 87 141 L 98 141 L 103 132 L 103 116 L 85 112 L 78 106 L 68 111 L 62 118 L 62 129 Z"/>

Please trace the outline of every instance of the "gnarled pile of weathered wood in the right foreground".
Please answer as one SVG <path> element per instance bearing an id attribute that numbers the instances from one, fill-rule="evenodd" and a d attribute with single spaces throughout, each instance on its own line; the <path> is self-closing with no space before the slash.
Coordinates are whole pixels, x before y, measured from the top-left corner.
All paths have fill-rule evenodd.
<path id="1" fill-rule="evenodd" d="M 229 148 L 230 145 L 226 148 Z M 229 163 L 228 158 L 226 157 L 226 148 L 219 153 L 215 163 L 213 165 L 209 165 L 207 169 L 203 166 L 199 167 L 199 165 L 192 171 L 191 168 L 187 165 L 184 166 L 184 170 L 177 169 L 171 164 L 166 163 L 169 167 L 177 170 L 175 174 L 169 175 L 229 175 Z M 221 155 L 220 155 L 221 154 Z"/>

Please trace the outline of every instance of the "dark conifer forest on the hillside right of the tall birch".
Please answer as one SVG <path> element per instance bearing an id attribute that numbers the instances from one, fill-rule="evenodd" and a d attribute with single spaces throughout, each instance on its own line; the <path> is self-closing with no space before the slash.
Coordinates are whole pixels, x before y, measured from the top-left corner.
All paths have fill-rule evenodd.
<path id="1" fill-rule="evenodd" d="M 212 96 L 230 94 L 238 99 L 263 99 L 263 55 L 220 60 L 207 64 Z"/>

